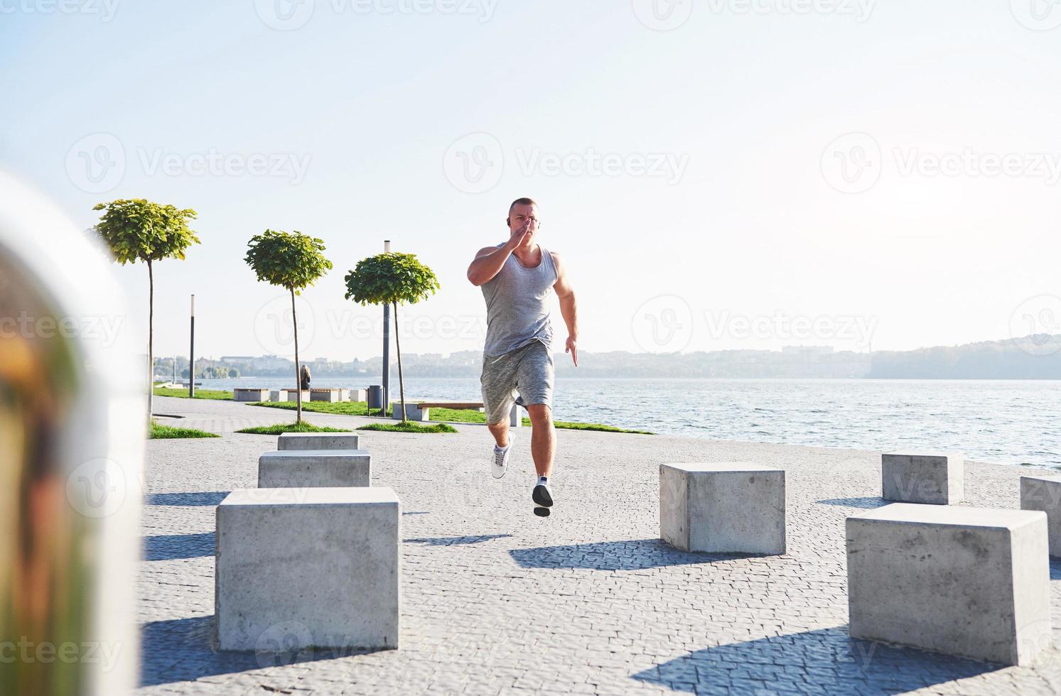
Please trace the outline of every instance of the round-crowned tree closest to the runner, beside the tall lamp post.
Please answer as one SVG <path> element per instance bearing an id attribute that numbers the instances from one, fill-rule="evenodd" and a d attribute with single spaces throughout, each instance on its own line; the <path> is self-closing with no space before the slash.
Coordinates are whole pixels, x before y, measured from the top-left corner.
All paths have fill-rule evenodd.
<path id="1" fill-rule="evenodd" d="M 362 259 L 346 274 L 346 299 L 361 304 L 392 304 L 395 311 L 395 347 L 398 352 L 398 388 L 401 419 L 405 421 L 405 383 L 401 373 L 401 342 L 398 337 L 398 304 L 415 304 L 439 289 L 435 272 L 420 263 L 415 254 L 387 251 Z"/>

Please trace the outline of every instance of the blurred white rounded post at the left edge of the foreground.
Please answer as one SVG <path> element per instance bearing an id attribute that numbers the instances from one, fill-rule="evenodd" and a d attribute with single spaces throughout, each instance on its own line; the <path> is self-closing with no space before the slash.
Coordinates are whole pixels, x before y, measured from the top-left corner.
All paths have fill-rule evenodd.
<path id="1" fill-rule="evenodd" d="M 2 694 L 109 696 L 137 681 L 147 385 L 108 261 L 0 172 Z"/>

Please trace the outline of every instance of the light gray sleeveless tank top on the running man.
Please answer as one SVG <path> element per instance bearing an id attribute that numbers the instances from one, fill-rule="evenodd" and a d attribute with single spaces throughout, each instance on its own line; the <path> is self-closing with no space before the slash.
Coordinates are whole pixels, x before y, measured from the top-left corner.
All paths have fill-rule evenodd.
<path id="1" fill-rule="evenodd" d="M 498 248 L 504 246 L 498 244 Z M 523 266 L 515 254 L 493 278 L 483 283 L 486 298 L 486 348 L 489 356 L 522 348 L 540 341 L 546 348 L 553 342 L 550 321 L 550 294 L 556 284 L 556 265 L 549 250 L 541 249 L 541 263 L 534 268 Z"/>

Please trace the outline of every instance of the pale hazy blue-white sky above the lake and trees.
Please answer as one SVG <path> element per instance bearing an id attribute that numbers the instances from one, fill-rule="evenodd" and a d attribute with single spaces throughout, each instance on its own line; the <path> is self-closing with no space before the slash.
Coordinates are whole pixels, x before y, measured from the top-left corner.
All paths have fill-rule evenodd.
<path id="1" fill-rule="evenodd" d="M 384 239 L 441 281 L 403 350 L 481 349 L 465 272 L 519 196 L 582 351 L 1061 333 L 1061 3 L 0 0 L 0 167 L 83 228 L 198 211 L 157 355 L 187 354 L 192 293 L 197 354 L 290 353 L 243 262 L 267 227 L 335 264 L 303 358 L 381 352 L 343 277 Z M 115 273 L 143 343 L 146 267 Z"/>

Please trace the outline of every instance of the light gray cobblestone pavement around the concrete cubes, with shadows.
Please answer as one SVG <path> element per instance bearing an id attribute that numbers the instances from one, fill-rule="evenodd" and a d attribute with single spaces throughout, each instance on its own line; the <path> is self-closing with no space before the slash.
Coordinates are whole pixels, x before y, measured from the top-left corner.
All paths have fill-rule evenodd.
<path id="1" fill-rule="evenodd" d="M 172 398 L 155 410 L 224 437 L 149 442 L 142 693 L 1061 693 L 1056 648 L 1033 666 L 1001 667 L 848 638 L 843 520 L 883 504 L 877 454 L 558 431 L 557 503 L 543 519 L 533 515 L 526 428 L 500 481 L 482 425 L 363 434 L 372 485 L 402 501 L 401 649 L 216 652 L 214 506 L 254 487 L 258 456 L 276 447 L 232 431 L 292 414 Z M 662 544 L 658 465 L 690 460 L 783 466 L 788 553 Z M 967 504 L 1017 507 L 1024 471 L 967 463 Z M 1061 564 L 1051 577 L 1061 640 Z"/>

